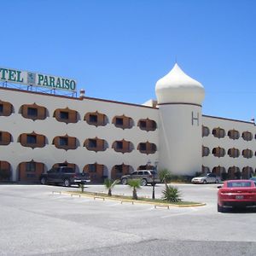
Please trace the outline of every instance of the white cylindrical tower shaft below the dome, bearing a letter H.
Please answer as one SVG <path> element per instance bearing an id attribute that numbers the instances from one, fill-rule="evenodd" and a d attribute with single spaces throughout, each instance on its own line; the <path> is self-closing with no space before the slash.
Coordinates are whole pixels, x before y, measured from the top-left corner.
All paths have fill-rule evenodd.
<path id="1" fill-rule="evenodd" d="M 160 168 L 173 174 L 201 171 L 201 107 L 189 104 L 159 106 Z M 197 120 L 192 125 L 192 113 Z"/>

